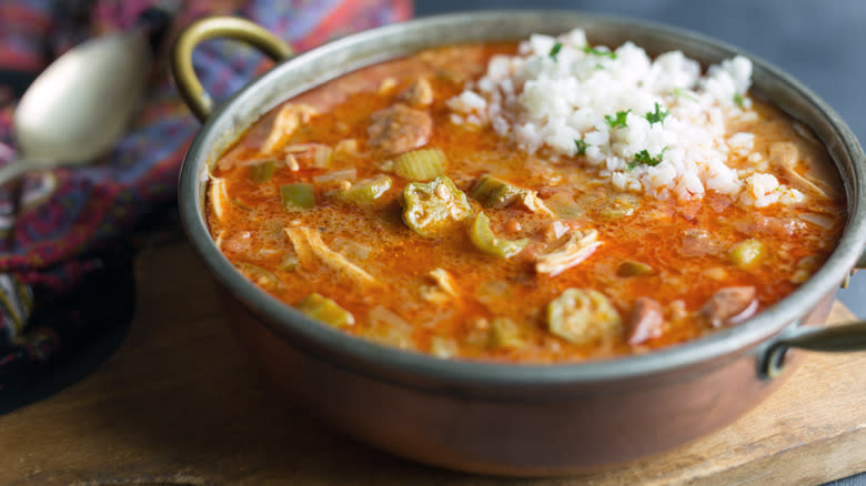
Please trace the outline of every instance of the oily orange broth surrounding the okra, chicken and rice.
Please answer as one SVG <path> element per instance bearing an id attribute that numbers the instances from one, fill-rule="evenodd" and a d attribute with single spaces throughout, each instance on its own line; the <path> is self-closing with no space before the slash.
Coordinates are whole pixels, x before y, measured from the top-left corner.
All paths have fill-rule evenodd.
<path id="1" fill-rule="evenodd" d="M 356 150 L 331 152 L 325 166 L 314 166 L 313 156 L 298 152 L 293 156 L 299 168 L 293 171 L 282 156 L 261 153 L 280 109 L 263 117 L 212 170 L 213 178 L 225 184 L 221 215 L 215 214 L 212 198 L 207 205 L 210 230 L 221 251 L 288 305 L 312 292 L 333 300 L 352 314 L 354 322 L 341 326 L 352 335 L 441 357 L 545 363 L 642 353 L 694 340 L 715 330 L 702 308 L 719 288 L 754 286 L 758 311 L 764 310 L 802 283 L 802 272 L 794 276 L 798 271 L 814 272 L 835 247 L 845 217 L 840 195 L 755 209 L 713 191 L 689 202 L 633 193 L 640 204 L 631 215 L 606 217 L 604 210 L 622 192 L 595 179 L 580 158 L 555 160 L 544 152 L 527 155 L 490 126 L 452 123 L 445 102 L 459 94 L 466 81 L 484 72 L 491 55 L 514 51 L 514 44 L 433 49 L 361 69 L 290 100 L 312 105 L 320 114 L 282 140 L 282 148 L 316 143 L 333 150 L 342 141 L 355 141 Z M 384 161 L 394 154 L 373 146 L 367 130 L 371 114 L 400 102 L 419 78 L 426 79 L 434 93 L 432 104 L 424 108 L 433 120 L 424 146 L 444 152 L 445 174 L 460 190 L 470 194 L 479 176 L 491 173 L 537 191 L 543 201 L 574 202 L 567 215 L 551 217 L 518 205 L 482 207 L 469 198 L 473 213 L 484 211 L 490 217 L 494 234 L 530 240 L 517 255 L 503 259 L 479 251 L 469 237 L 472 217 L 455 222 L 435 237 L 421 236 L 404 224 L 402 192 L 410 181 L 386 170 Z M 838 188 L 824 149 L 798 135 L 792 120 L 778 109 L 754 93 L 752 98 L 759 120 L 732 126 L 731 132 L 754 132 L 754 150 L 758 152 L 766 152 L 777 141 L 796 144 L 803 159 L 798 171 L 824 174 L 826 184 Z M 271 159 L 275 169 L 270 179 L 253 181 L 250 168 Z M 334 191 L 345 182 L 314 181 L 346 169 L 356 171 L 348 179 L 384 173 L 393 185 L 374 204 L 360 205 L 334 198 Z M 781 183 L 792 182 L 784 171 L 769 168 L 769 172 Z M 298 182 L 313 184 L 315 205 L 286 211 L 279 188 Z M 809 212 L 829 220 L 829 227 L 800 221 L 798 215 L 806 204 Z M 581 264 L 551 276 L 536 271 L 532 249 L 535 245 L 537 253 L 540 247 L 554 244 L 548 226 L 557 219 L 574 227 L 592 226 L 602 245 Z M 325 264 L 299 263 L 298 249 L 284 231 L 292 226 L 316 231 L 329 249 L 377 284 L 359 283 Z M 754 267 L 737 267 L 731 250 L 749 239 L 761 241 L 766 255 Z M 623 276 L 621 265 L 626 261 L 640 262 L 652 271 Z M 435 269 L 452 277 L 454 295 L 443 292 L 431 277 Z M 581 343 L 551 333 L 547 305 L 566 288 L 602 292 L 620 314 L 622 325 Z M 661 304 L 664 323 L 657 336 L 635 344 L 628 340 L 630 315 L 642 296 Z M 503 316 L 516 324 L 517 344 L 492 342 L 491 322 Z"/>

